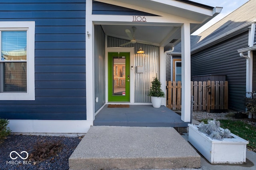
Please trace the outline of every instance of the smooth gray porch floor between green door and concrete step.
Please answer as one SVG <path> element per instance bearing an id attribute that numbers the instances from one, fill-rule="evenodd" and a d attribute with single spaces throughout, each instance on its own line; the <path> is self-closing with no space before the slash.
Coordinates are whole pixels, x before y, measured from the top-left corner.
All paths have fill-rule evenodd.
<path id="1" fill-rule="evenodd" d="M 188 123 L 167 107 L 154 108 L 152 105 L 130 105 L 128 108 L 106 105 L 94 120 L 94 126 L 187 127 Z"/>

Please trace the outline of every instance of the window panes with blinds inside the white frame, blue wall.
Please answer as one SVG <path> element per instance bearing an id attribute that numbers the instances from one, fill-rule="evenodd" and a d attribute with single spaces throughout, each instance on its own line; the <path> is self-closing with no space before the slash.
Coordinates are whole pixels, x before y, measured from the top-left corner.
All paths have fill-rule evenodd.
<path id="1" fill-rule="evenodd" d="M 0 31 L 0 91 L 27 92 L 27 31 Z"/>

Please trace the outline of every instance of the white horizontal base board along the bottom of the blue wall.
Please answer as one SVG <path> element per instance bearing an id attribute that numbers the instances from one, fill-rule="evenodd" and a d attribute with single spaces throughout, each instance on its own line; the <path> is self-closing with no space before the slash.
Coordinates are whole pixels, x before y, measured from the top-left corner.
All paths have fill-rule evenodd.
<path id="1" fill-rule="evenodd" d="M 87 120 L 9 120 L 12 133 L 84 134 L 93 125 Z"/>

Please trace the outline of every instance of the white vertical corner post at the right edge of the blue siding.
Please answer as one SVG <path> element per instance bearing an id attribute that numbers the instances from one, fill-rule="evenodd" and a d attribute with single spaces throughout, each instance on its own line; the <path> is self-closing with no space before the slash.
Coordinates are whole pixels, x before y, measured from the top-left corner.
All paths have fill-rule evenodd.
<path id="1" fill-rule="evenodd" d="M 94 24 L 92 23 L 92 0 L 86 0 L 86 120 L 95 118 L 94 98 Z"/>

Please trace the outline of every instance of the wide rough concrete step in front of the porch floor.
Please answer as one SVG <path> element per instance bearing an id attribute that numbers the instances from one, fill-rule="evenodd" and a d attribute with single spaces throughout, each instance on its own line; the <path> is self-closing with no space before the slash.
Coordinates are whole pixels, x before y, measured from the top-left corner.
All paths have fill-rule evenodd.
<path id="1" fill-rule="evenodd" d="M 200 155 L 172 127 L 93 126 L 68 162 L 70 170 L 199 168 Z"/>

